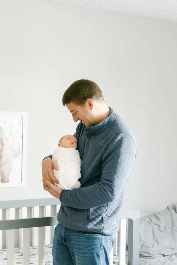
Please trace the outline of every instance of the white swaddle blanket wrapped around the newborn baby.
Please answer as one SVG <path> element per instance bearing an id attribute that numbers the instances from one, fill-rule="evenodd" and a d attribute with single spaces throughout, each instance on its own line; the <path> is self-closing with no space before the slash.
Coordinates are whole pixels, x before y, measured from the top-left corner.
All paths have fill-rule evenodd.
<path id="1" fill-rule="evenodd" d="M 80 165 L 81 160 L 79 151 L 73 147 L 61 147 L 55 149 L 52 160 L 57 161 L 58 170 L 54 171 L 54 176 L 58 180 L 57 185 L 61 189 L 78 189 L 81 177 Z"/>

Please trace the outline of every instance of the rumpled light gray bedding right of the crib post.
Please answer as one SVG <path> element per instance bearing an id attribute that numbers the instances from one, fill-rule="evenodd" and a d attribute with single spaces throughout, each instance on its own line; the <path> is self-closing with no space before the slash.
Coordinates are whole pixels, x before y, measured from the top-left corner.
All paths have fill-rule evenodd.
<path id="1" fill-rule="evenodd" d="M 169 206 L 140 219 L 140 264 L 177 265 L 177 213 Z"/>

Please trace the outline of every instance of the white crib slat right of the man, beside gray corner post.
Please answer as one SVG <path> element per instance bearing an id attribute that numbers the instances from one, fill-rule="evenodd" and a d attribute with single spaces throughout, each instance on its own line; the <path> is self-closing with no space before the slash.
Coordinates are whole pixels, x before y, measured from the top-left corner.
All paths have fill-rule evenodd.
<path id="1" fill-rule="evenodd" d="M 119 245 L 119 257 L 120 265 L 125 265 L 125 257 L 126 257 L 126 219 L 120 220 L 120 245 Z"/>

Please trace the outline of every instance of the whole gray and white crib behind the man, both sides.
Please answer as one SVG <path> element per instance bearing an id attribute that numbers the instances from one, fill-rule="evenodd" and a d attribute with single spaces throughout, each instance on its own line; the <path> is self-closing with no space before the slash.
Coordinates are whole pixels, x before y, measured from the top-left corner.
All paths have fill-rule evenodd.
<path id="1" fill-rule="evenodd" d="M 50 210 L 46 216 L 46 207 Z M 32 200 L 15 200 L 0 202 L 0 249 L 7 249 L 7 265 L 14 264 L 14 249 L 23 246 L 23 265 L 30 264 L 30 246 L 33 246 L 34 228 L 38 227 L 38 265 L 45 264 L 46 227 L 50 227 L 48 244 L 53 242 L 54 227 L 58 224 L 56 214 L 60 207 L 57 198 Z M 38 217 L 34 217 L 34 208 L 38 210 Z M 23 210 L 26 217 L 23 218 Z M 13 210 L 14 217 L 10 214 Z M 128 257 L 126 263 L 126 220 L 128 219 Z M 139 264 L 139 225 L 138 210 L 120 211 L 120 228 L 110 254 L 110 265 Z M 23 234 L 23 236 L 22 236 Z M 119 241 L 119 251 L 118 251 Z M 1 251 L 0 251 L 1 252 Z M 118 256 L 119 252 L 119 256 Z M 93 265 L 93 264 L 92 264 Z"/>

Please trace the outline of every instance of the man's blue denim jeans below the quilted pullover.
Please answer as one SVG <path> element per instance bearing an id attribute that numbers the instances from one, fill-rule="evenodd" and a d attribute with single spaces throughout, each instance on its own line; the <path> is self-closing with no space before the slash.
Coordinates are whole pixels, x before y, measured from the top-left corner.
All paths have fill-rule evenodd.
<path id="1" fill-rule="evenodd" d="M 115 234 L 103 235 L 77 232 L 55 227 L 53 240 L 53 265 L 109 265 Z"/>

